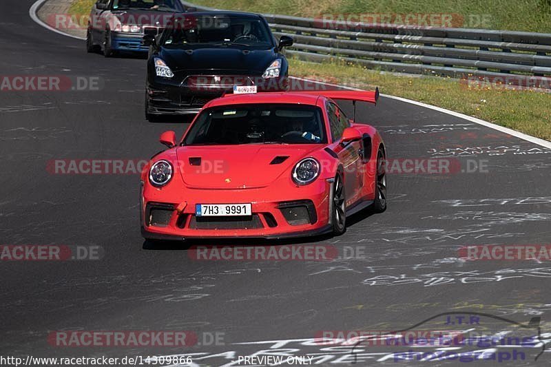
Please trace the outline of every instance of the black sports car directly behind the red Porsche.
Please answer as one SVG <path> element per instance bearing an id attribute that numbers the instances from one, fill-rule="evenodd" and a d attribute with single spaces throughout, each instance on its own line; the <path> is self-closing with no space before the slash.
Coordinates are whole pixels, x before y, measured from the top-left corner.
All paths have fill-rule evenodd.
<path id="1" fill-rule="evenodd" d="M 145 115 L 196 114 L 207 101 L 234 88 L 256 92 L 287 90 L 288 63 L 279 41 L 259 14 L 191 12 L 177 14 L 149 48 Z"/>

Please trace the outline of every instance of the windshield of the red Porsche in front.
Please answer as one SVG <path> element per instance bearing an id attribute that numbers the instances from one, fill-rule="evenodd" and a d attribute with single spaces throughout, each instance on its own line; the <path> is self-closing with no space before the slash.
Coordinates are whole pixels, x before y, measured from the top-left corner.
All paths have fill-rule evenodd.
<path id="1" fill-rule="evenodd" d="M 205 109 L 184 139 L 184 145 L 320 143 L 327 143 L 321 109 L 282 103 Z"/>

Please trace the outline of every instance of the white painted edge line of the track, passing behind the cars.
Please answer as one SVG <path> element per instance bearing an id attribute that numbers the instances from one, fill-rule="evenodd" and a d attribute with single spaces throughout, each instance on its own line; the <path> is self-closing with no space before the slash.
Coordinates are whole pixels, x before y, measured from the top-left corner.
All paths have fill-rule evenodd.
<path id="1" fill-rule="evenodd" d="M 35 22 L 37 22 L 39 25 L 42 25 L 44 28 L 47 28 L 48 30 L 51 30 L 52 32 L 56 32 L 56 33 L 59 33 L 59 34 L 63 34 L 64 36 L 69 36 L 69 37 L 72 37 L 74 39 L 81 39 L 81 40 L 85 40 L 85 38 L 82 38 L 82 37 L 77 37 L 77 36 L 72 36 L 71 34 L 67 34 L 67 33 L 64 33 L 64 32 L 61 32 L 60 30 L 56 30 L 55 28 L 53 27 L 50 27 L 50 25 L 44 23 L 43 21 L 41 21 L 39 19 L 39 17 L 37 16 L 37 10 L 42 6 L 43 3 L 45 3 L 46 1 L 48 0 L 38 0 L 36 3 L 32 4 L 32 6 L 30 7 L 30 10 L 29 10 L 29 15 L 30 17 L 32 18 L 32 20 L 34 20 Z M 345 85 L 338 85 L 338 84 L 333 84 L 333 83 L 325 83 L 325 82 L 322 82 L 322 81 L 312 81 L 311 79 L 306 79 L 306 78 L 298 78 L 297 76 L 291 76 L 291 78 L 295 78 L 299 81 L 309 81 L 309 82 L 314 82 L 314 83 L 318 83 L 318 84 L 324 84 L 324 85 L 329 85 L 331 87 L 339 87 L 339 88 L 342 88 L 342 89 L 345 89 L 345 90 L 356 90 L 356 91 L 361 91 L 361 89 L 359 88 L 353 88 L 353 87 L 346 87 Z M 451 115 L 451 116 L 455 116 L 457 118 L 462 118 L 464 120 L 468 120 L 468 121 L 471 121 L 472 123 L 477 123 L 479 125 L 483 125 L 483 126 L 486 126 L 486 127 L 490 127 L 490 129 L 495 129 L 499 132 L 503 132 L 505 134 L 509 134 L 511 136 L 515 136 L 519 139 L 522 139 L 522 140 L 526 140 L 526 141 L 529 141 L 530 143 L 533 143 L 533 144 L 536 144 L 536 145 L 540 145 L 541 147 L 546 147 L 546 148 L 550 148 L 551 149 L 551 142 L 550 141 L 547 141 L 547 140 L 543 140 L 543 139 L 540 139 L 540 138 L 536 138 L 535 136 L 530 136 L 530 135 L 527 135 L 527 134 L 523 134 L 521 132 L 517 132 L 516 130 L 513 130 L 513 129 L 509 129 L 508 127 L 503 127 L 503 126 L 499 126 L 499 125 L 495 125 L 495 124 L 492 124 L 492 123 L 489 123 L 488 121 L 484 121 L 484 120 L 481 120 L 479 118 L 476 118 L 476 117 L 472 117 L 472 116 L 468 116 L 468 115 L 465 115 L 465 114 L 460 114 L 459 112 L 454 112 L 454 111 L 450 111 L 449 109 L 445 109 L 445 108 L 441 108 L 441 107 L 436 107 L 436 106 L 433 106 L 433 105 L 427 105 L 426 103 L 422 103 L 422 102 L 417 102 L 417 101 L 412 101 L 410 99 L 407 99 L 407 98 L 402 98 L 402 97 L 397 97 L 397 96 L 391 96 L 391 95 L 388 95 L 388 94 L 381 94 L 381 96 L 384 96 L 386 98 L 392 98 L 392 99 L 395 99 L 397 101 L 401 101 L 401 102 L 405 102 L 405 103 L 410 103 L 412 105 L 417 105 L 419 107 L 424 107 L 424 108 L 428 108 L 428 109 L 434 109 L 435 111 L 438 111 L 438 112 L 441 112 L 443 114 L 448 114 L 448 115 Z"/>

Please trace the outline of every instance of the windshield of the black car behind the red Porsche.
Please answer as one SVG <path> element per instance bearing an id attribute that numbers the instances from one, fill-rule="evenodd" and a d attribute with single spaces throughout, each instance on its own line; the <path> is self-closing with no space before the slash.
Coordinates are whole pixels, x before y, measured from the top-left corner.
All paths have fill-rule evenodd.
<path id="1" fill-rule="evenodd" d="M 270 47 L 271 33 L 260 18 L 225 15 L 193 15 L 178 17 L 163 37 L 166 48 L 189 48 L 200 45 L 237 45 Z"/>

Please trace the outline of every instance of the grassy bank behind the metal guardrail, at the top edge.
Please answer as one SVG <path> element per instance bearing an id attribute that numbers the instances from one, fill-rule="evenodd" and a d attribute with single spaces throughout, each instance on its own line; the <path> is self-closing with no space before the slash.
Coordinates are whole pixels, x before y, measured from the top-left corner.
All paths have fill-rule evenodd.
<path id="1" fill-rule="evenodd" d="M 392 23 L 405 14 L 454 14 L 453 26 L 492 30 L 551 32 L 551 0 L 188 0 L 219 9 L 245 10 L 296 17 L 322 14 L 388 14 Z M 394 14 L 394 15 L 393 15 Z M 436 26 L 436 23 L 430 23 Z"/>

